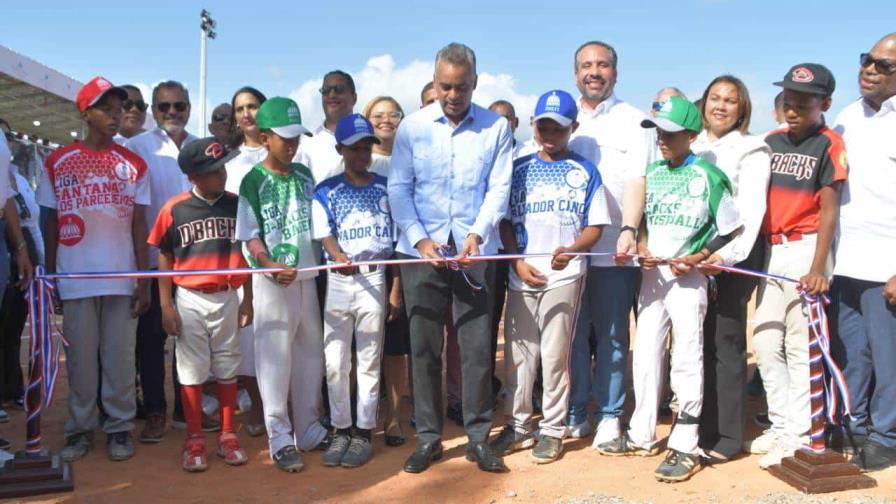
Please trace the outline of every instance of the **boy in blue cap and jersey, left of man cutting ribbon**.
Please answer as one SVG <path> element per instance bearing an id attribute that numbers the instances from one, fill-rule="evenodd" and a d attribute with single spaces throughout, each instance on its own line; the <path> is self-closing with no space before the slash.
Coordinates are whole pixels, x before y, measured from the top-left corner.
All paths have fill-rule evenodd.
<path id="1" fill-rule="evenodd" d="M 336 125 L 336 150 L 345 171 L 317 186 L 312 206 L 314 238 L 321 240 L 331 270 L 324 303 L 324 357 L 330 396 L 330 421 L 336 429 L 324 453 L 324 465 L 358 467 L 373 452 L 371 430 L 379 404 L 380 360 L 386 319 L 383 266 L 351 266 L 392 255 L 393 226 L 386 177 L 368 171 L 373 126 L 360 114 Z M 357 420 L 352 433 L 350 398 L 352 335 L 357 351 Z"/>

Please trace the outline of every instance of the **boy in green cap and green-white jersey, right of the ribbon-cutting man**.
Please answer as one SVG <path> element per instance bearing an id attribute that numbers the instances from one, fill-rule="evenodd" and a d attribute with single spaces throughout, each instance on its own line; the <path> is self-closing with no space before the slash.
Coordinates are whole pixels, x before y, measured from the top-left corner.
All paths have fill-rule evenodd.
<path id="1" fill-rule="evenodd" d="M 725 174 L 691 152 L 702 129 L 693 103 L 673 96 L 653 119 L 663 159 L 647 168 L 644 220 L 638 254 L 644 277 L 638 299 L 638 334 L 632 376 L 635 411 L 630 428 L 598 446 L 605 455 L 655 455 L 656 418 L 665 360 L 672 334 L 672 390 L 679 412 L 669 435 L 668 454 L 654 476 L 684 481 L 701 469 L 697 427 L 703 406 L 703 316 L 706 277 L 697 265 L 742 229 Z"/>

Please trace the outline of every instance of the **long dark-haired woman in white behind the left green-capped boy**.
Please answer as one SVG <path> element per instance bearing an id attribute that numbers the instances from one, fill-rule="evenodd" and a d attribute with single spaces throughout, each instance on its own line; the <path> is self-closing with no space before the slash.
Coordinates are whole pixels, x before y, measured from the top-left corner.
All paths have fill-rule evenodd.
<path id="1" fill-rule="evenodd" d="M 255 122 L 258 107 L 266 99 L 261 91 L 245 86 L 238 89 L 230 100 L 230 146 L 238 148 L 240 153 L 225 165 L 227 170 L 225 189 L 228 192 L 239 194 L 243 177 L 252 170 L 253 166 L 262 162 L 268 154 L 267 149 L 261 143 L 258 124 Z M 246 432 L 253 437 L 260 436 L 265 432 L 261 394 L 258 392 L 258 382 L 255 379 L 254 335 L 252 324 L 240 329 L 240 352 L 243 354 L 243 359 L 238 372 L 240 383 L 249 394 L 249 398 L 252 399 L 252 410 L 249 412 L 249 420 L 246 422 Z"/>

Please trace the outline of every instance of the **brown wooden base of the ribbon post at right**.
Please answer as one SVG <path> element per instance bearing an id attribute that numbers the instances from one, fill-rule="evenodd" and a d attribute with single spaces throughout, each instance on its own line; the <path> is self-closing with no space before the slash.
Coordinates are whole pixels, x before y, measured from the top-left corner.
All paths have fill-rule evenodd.
<path id="1" fill-rule="evenodd" d="M 854 464 L 832 450 L 814 453 L 797 450 L 768 472 L 797 490 L 807 493 L 828 493 L 858 490 L 877 486 L 874 479 L 861 473 Z"/>

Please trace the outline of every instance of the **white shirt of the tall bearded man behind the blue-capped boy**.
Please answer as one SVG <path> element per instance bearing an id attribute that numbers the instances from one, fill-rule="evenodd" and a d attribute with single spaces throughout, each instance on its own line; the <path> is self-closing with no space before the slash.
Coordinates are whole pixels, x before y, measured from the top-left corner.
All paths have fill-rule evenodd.
<path id="1" fill-rule="evenodd" d="M 610 95 L 594 110 L 586 109 L 579 99 L 579 129 L 569 148 L 591 161 L 600 172 L 607 190 L 610 224 L 591 249 L 596 253 L 616 253 L 616 241 L 622 226 L 622 197 L 625 182 L 644 177 L 649 152 L 655 144 L 653 129 L 641 127 L 643 112 Z M 611 256 L 593 257 L 592 266 L 614 266 Z"/>

